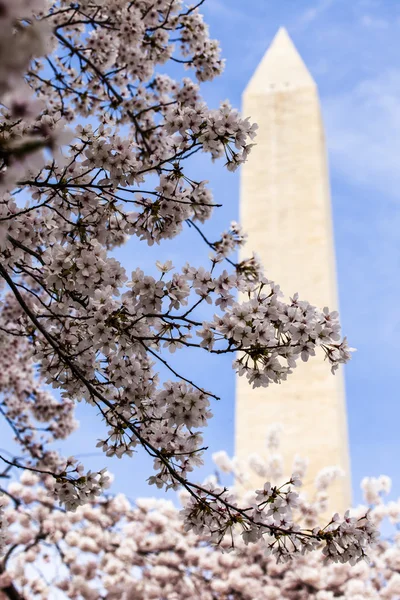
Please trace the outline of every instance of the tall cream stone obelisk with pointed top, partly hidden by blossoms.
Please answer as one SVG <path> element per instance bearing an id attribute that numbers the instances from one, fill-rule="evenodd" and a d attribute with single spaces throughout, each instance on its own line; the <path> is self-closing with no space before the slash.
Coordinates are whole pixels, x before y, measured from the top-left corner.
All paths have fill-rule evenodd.
<path id="1" fill-rule="evenodd" d="M 243 95 L 243 114 L 258 123 L 256 146 L 241 176 L 240 221 L 286 298 L 337 308 L 329 176 L 318 90 L 281 28 Z M 265 454 L 269 425 L 283 425 L 286 473 L 296 454 L 309 459 L 305 491 L 315 475 L 339 466 L 346 475 L 330 491 L 329 510 L 350 506 L 350 465 L 343 374 L 321 356 L 299 364 L 281 385 L 252 389 L 239 377 L 236 455 Z M 252 482 L 259 485 L 256 476 Z"/>

